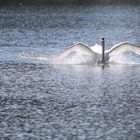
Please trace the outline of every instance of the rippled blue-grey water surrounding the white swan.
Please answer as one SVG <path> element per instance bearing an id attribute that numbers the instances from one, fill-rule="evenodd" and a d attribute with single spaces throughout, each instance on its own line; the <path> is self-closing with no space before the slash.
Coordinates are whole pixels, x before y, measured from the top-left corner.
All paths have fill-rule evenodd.
<path id="1" fill-rule="evenodd" d="M 140 45 L 139 19 L 138 5 L 1 7 L 0 139 L 138 140 L 139 65 L 53 65 L 45 58 L 101 36 L 107 49 Z"/>

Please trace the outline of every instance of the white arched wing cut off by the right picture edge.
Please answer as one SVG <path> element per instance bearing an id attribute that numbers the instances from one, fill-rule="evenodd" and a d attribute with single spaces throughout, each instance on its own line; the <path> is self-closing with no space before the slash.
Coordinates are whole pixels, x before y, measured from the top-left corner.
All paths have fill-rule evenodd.
<path id="1" fill-rule="evenodd" d="M 116 44 L 106 54 L 110 63 L 140 64 L 140 47 L 130 43 Z"/>

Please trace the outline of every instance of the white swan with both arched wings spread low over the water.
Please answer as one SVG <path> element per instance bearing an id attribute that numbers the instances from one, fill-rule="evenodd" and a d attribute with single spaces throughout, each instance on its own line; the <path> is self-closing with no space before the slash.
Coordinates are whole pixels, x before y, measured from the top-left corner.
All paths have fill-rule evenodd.
<path id="1" fill-rule="evenodd" d="M 76 43 L 56 54 L 53 64 L 98 64 L 102 62 L 102 46 Z M 114 45 L 105 51 L 106 63 L 140 64 L 140 47 L 127 42 Z"/>

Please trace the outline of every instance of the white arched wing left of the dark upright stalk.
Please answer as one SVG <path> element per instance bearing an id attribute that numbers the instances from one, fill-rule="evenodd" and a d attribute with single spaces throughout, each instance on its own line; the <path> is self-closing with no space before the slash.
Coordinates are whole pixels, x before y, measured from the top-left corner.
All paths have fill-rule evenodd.
<path id="1" fill-rule="evenodd" d="M 98 54 L 93 52 L 83 43 L 74 44 L 54 58 L 54 64 L 95 64 L 97 63 Z"/>

